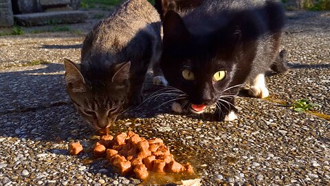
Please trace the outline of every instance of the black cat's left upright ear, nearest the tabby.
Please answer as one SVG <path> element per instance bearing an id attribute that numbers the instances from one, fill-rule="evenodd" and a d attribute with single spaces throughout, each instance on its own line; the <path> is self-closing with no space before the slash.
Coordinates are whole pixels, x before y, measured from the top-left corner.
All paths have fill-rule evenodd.
<path id="1" fill-rule="evenodd" d="M 189 30 L 184 25 L 184 21 L 181 19 L 180 15 L 173 10 L 169 10 L 163 22 L 164 45 L 172 45 L 179 43 L 186 43 L 190 37 Z"/>

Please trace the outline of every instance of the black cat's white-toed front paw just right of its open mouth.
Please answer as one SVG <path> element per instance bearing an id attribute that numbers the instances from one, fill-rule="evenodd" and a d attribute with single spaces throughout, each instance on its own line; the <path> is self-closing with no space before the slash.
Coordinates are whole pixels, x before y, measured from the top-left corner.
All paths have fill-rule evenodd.
<path id="1" fill-rule="evenodd" d="M 219 121 L 234 121 L 238 118 L 236 112 L 235 99 L 225 98 L 217 101 L 217 109 L 214 115 Z"/>

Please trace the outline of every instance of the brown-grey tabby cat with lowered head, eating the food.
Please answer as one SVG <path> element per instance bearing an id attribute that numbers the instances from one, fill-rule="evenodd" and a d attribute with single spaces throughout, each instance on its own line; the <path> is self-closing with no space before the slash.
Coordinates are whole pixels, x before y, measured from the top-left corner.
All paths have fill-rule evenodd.
<path id="1" fill-rule="evenodd" d="M 147 0 L 129 0 L 100 21 L 85 38 L 81 63 L 67 59 L 65 79 L 74 105 L 89 123 L 104 128 L 142 101 L 150 63 L 154 82 L 166 85 L 159 68 L 159 14 Z"/>

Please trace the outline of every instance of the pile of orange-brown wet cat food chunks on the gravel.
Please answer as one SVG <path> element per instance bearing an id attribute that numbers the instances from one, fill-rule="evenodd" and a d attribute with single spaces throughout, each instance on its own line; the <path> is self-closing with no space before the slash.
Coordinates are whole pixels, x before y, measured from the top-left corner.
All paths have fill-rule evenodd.
<path id="1" fill-rule="evenodd" d="M 70 149 L 76 154 L 78 150 Z M 120 132 L 114 137 L 104 135 L 94 145 L 94 156 L 105 157 L 120 174 L 135 174 L 136 178 L 146 179 L 149 172 L 193 174 L 190 163 L 177 163 L 173 154 L 159 138 L 146 140 L 134 132 Z"/>

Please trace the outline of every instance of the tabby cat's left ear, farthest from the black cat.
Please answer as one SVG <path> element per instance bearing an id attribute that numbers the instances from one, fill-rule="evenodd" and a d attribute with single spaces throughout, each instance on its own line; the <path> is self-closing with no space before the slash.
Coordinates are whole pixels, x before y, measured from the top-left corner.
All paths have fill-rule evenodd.
<path id="1" fill-rule="evenodd" d="M 67 88 L 75 93 L 85 92 L 86 85 L 83 74 L 80 73 L 80 65 L 64 59 L 64 68 Z"/>

